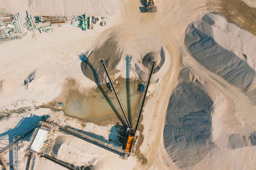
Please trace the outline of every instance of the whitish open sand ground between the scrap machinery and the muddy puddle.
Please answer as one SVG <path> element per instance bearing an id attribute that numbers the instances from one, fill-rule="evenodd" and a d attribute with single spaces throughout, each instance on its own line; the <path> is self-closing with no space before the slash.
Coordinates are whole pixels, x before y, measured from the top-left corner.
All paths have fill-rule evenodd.
<path id="1" fill-rule="evenodd" d="M 3 64 L 0 108 L 8 108 L 20 99 L 35 105 L 47 103 L 60 94 L 66 78 L 78 80 L 83 87 L 92 87 L 93 82 L 81 72 L 79 55 L 92 48 L 93 39 L 104 29 L 108 27 L 99 26 L 86 32 L 76 27 L 61 27 L 49 34 L 37 34 L 35 39 L 27 36 L 0 45 Z M 24 80 L 33 72 L 35 80 L 24 85 Z"/>

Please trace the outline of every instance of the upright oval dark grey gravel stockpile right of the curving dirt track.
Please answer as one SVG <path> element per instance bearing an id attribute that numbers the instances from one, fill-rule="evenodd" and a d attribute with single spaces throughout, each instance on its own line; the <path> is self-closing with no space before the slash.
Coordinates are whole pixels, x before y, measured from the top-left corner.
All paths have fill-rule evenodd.
<path id="1" fill-rule="evenodd" d="M 212 101 L 197 81 L 180 73 L 166 111 L 164 147 L 180 168 L 193 166 L 211 150 Z"/>

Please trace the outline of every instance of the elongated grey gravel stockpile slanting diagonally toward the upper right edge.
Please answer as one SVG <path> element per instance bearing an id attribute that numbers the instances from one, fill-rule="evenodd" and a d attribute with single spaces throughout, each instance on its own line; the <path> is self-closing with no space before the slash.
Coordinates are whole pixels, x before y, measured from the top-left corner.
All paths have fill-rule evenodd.
<path id="1" fill-rule="evenodd" d="M 255 71 L 234 53 L 225 50 L 211 37 L 214 22 L 207 15 L 186 29 L 185 45 L 189 53 L 207 69 L 225 78 L 232 85 L 246 90 L 255 77 Z"/>

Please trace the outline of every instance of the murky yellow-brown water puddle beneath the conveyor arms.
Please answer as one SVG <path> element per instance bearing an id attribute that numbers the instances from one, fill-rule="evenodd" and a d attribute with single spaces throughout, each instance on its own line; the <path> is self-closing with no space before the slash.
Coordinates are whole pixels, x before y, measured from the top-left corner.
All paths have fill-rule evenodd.
<path id="1" fill-rule="evenodd" d="M 127 101 L 131 104 L 131 109 L 129 109 L 129 113 L 131 113 L 130 120 L 132 120 L 132 124 L 135 125 L 141 98 L 141 94 L 137 92 L 138 81 L 130 80 L 129 88 L 127 87 L 126 79 L 117 79 L 116 90 L 118 91 L 118 96 L 126 113 L 128 113 Z M 127 98 L 127 91 L 129 91 L 129 99 Z M 108 91 L 104 95 L 99 87 L 94 89 L 90 96 L 85 96 L 81 94 L 81 92 L 71 92 L 63 110 L 65 114 L 70 117 L 76 117 L 98 125 L 120 122 L 113 111 L 113 107 L 111 108 L 111 104 L 109 104 L 104 96 L 109 97 L 110 103 L 113 103 L 113 106 L 122 116 L 122 111 L 120 110 L 120 106 L 118 105 L 113 92 Z"/>

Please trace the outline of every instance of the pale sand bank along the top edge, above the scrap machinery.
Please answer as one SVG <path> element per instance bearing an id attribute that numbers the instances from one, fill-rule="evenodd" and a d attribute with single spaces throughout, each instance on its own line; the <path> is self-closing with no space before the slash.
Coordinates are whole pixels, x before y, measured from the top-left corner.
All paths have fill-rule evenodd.
<path id="1" fill-rule="evenodd" d="M 120 5 L 121 0 L 100 0 L 100 1 L 83 1 L 83 0 L 64 0 L 64 1 L 6 1 L 2 4 L 5 8 L 19 11 L 25 14 L 24 10 L 28 10 L 33 15 L 113 15 Z"/>

